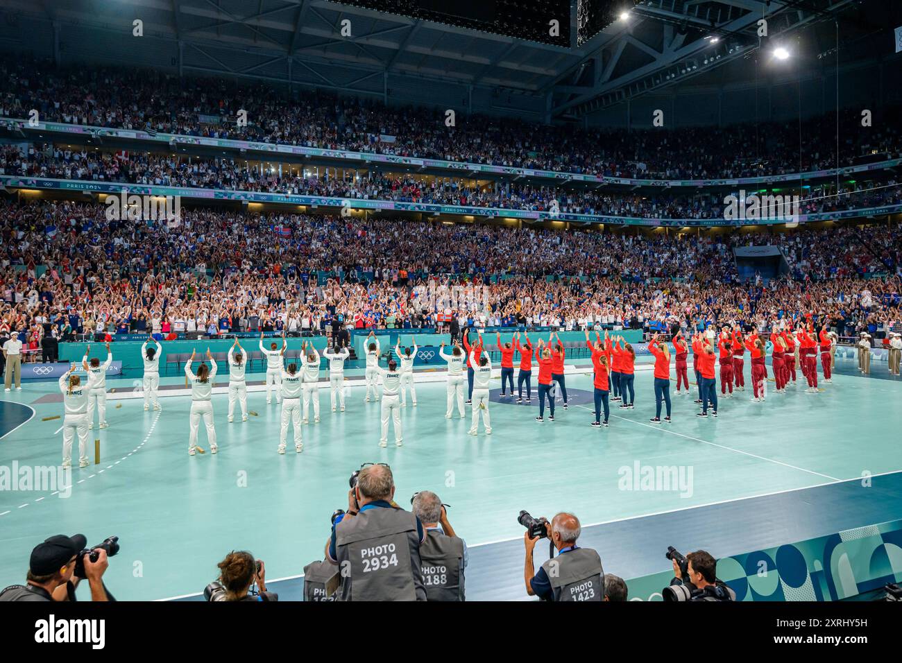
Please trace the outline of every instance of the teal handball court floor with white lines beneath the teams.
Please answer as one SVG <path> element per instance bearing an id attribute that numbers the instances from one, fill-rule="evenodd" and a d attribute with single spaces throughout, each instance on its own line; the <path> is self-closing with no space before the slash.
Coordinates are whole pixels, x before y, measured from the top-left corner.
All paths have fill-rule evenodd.
<path id="1" fill-rule="evenodd" d="M 525 598 L 520 510 L 549 518 L 573 511 L 585 536 L 608 532 L 595 537 L 605 568 L 624 577 L 666 570 L 667 545 L 686 551 L 709 545 L 715 556 L 732 555 L 770 539 L 777 545 L 840 525 L 894 520 L 902 516 L 902 383 L 882 374 L 885 365 L 875 365 L 870 377 L 844 360 L 837 369 L 833 384 L 817 395 L 800 382 L 786 395 L 769 391 L 761 404 L 751 401 L 748 387 L 722 401 L 718 419 L 695 417 L 694 395 L 674 396 L 674 423 L 667 427 L 649 423 L 649 370 L 636 373 L 635 409 L 614 406 L 610 428 L 602 429 L 589 425 L 588 375 L 567 376 L 580 404 L 558 408 L 557 420 L 542 424 L 534 420 L 535 396 L 531 407 L 499 402 L 495 380 L 493 432 L 484 435 L 481 425 L 478 437 L 467 435 L 470 410 L 464 420 L 445 419 L 444 382 L 421 383 L 418 407 L 409 400 L 402 410 L 404 446 L 395 447 L 390 432 L 384 449 L 380 404 L 365 403 L 364 389 L 354 386 L 347 410 L 333 413 L 322 387 L 321 422 L 314 424 L 311 412 L 302 427 L 303 453 L 293 453 L 289 442 L 285 456 L 276 453 L 280 406 L 267 406 L 260 391 L 248 394 L 259 416 L 246 423 L 227 423 L 227 397 L 216 395 L 219 453 L 209 453 L 201 427 L 207 453 L 194 457 L 187 453 L 188 396 L 164 397 L 161 412 L 145 412 L 140 399 L 117 401 L 114 393 L 107 401 L 110 428 L 91 431 L 92 465 L 72 470 L 69 497 L 0 491 L 0 584 L 22 582 L 31 548 L 60 532 L 84 533 L 89 543 L 120 538 L 121 552 L 106 574 L 120 600 L 198 594 L 233 549 L 265 560 L 271 582 L 297 578 L 323 557 L 329 517 L 347 508 L 348 476 L 364 462 L 391 465 L 400 505 L 409 507 L 420 490 L 450 505 L 449 518 L 471 550 L 470 598 Z M 107 386 L 130 391 L 137 377 Z M 163 382 L 184 386 L 182 376 Z M 55 382 L 32 382 L 5 394 L 0 465 L 59 464 L 62 421 L 41 420 L 62 414 L 57 393 Z M 95 438 L 100 465 L 93 464 Z M 676 468 L 684 481 L 649 488 L 628 480 L 647 467 Z M 880 477 L 877 488 L 849 493 L 867 474 Z M 629 529 L 633 523 L 644 529 Z M 609 529 L 597 529 L 603 525 Z"/>

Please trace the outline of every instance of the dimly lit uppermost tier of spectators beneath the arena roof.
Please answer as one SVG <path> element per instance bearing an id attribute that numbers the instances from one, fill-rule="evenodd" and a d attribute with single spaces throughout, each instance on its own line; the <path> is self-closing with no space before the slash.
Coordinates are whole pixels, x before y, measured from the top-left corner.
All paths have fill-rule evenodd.
<path id="1" fill-rule="evenodd" d="M 186 79 L 157 71 L 65 68 L 29 59 L 0 63 L 0 117 L 208 136 L 330 150 L 466 161 L 598 176 L 721 179 L 835 168 L 836 115 L 796 122 L 604 131 L 474 116 L 445 125 L 444 109 L 384 106 L 327 92 L 288 99 L 274 87 Z M 89 90 L 86 94 L 86 90 Z M 246 110 L 248 124 L 235 118 Z M 840 113 L 841 167 L 898 157 L 899 109 L 867 132 L 857 110 Z M 801 154 L 801 156 L 800 156 Z"/>

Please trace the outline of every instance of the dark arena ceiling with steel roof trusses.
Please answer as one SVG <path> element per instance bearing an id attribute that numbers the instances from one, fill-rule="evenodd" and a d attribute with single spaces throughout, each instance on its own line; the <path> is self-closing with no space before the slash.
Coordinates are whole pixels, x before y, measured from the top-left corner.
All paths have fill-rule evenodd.
<path id="1" fill-rule="evenodd" d="M 762 17 L 779 35 L 832 25 L 860 3 L 643 0 L 629 19 L 577 47 L 574 0 L 572 46 L 564 48 L 329 0 L 0 0 L 7 21 L 48 21 L 57 40 L 71 26 L 130 32 L 140 18 L 145 34 L 178 43 L 172 65 L 181 71 L 367 95 L 380 94 L 390 75 L 453 81 L 537 97 L 547 121 L 579 119 L 741 58 L 758 47 Z M 350 37 L 340 34 L 345 19 Z"/>

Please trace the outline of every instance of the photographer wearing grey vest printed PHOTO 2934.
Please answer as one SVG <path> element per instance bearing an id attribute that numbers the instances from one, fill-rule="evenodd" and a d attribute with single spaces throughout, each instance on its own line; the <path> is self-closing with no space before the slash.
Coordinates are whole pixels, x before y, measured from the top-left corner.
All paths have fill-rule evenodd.
<path id="1" fill-rule="evenodd" d="M 341 569 L 341 601 L 425 601 L 419 519 L 393 502 L 388 465 L 364 465 L 352 477 L 348 511 L 336 517 L 327 555 Z"/>

